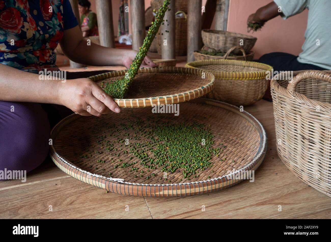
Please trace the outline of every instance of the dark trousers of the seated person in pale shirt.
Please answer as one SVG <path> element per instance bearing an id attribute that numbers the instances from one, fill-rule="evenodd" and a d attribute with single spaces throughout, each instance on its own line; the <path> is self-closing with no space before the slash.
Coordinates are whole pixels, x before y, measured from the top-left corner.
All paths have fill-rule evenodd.
<path id="1" fill-rule="evenodd" d="M 297 60 L 298 56 L 283 53 L 283 52 L 272 52 L 269 54 L 262 55 L 257 62 L 264 63 L 273 67 L 274 71 L 301 71 L 301 70 L 324 70 L 321 67 L 303 64 Z M 270 82 L 268 84 L 268 89 L 263 97 L 269 101 L 272 100 L 270 93 Z"/>

